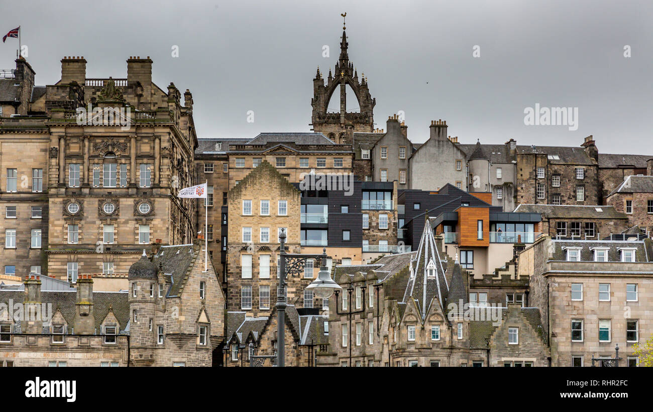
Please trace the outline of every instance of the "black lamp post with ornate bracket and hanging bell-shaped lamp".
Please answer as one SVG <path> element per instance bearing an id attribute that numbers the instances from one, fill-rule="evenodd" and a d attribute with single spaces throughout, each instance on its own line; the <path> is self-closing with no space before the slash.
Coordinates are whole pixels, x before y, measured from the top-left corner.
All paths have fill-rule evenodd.
<path id="1" fill-rule="evenodd" d="M 323 248 L 322 254 L 289 254 L 285 252 L 285 229 L 279 233 L 279 286 L 277 287 L 277 366 L 285 366 L 285 308 L 287 306 L 285 287 L 286 276 L 294 274 L 297 276 L 304 270 L 304 263 L 308 259 L 320 259 L 320 271 L 317 279 L 311 282 L 306 289 L 312 289 L 313 293 L 321 299 L 328 299 L 336 289 L 342 289 L 336 282 L 331 280 L 327 271 L 327 248 Z"/>

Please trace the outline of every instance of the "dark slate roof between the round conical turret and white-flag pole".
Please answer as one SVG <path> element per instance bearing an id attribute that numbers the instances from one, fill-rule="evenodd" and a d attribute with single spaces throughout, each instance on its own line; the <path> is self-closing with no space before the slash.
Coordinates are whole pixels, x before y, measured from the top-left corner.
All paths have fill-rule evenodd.
<path id="1" fill-rule="evenodd" d="M 173 246 L 161 246 L 159 253 L 152 259 L 156 267 L 165 274 L 172 275 L 172 285 L 168 290 L 167 297 L 178 296 L 185 280 L 199 256 L 199 247 L 195 250 L 193 244 L 177 244 Z"/>

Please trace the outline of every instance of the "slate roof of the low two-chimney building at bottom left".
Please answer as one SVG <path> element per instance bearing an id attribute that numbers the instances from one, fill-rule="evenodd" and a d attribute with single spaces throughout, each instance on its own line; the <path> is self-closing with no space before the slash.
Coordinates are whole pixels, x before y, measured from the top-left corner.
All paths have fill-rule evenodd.
<path id="1" fill-rule="evenodd" d="M 41 302 L 44 304 L 52 303 L 52 314 L 61 311 L 64 319 L 69 326 L 69 331 L 74 325 L 76 312 L 77 291 L 41 291 Z M 123 331 L 129 322 L 129 301 L 128 293 L 124 292 L 93 292 L 93 317 L 95 318 L 95 327 L 98 332 L 104 318 L 112 308 L 120 329 Z M 0 302 L 8 304 L 10 300 L 14 303 L 22 303 L 25 299 L 24 291 L 9 291 L 0 289 Z"/>

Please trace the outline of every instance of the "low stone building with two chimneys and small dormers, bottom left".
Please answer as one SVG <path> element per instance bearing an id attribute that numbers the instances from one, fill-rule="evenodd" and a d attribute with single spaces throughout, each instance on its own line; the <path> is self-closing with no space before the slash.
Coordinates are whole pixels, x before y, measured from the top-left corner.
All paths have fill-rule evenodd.
<path id="1" fill-rule="evenodd" d="M 0 366 L 127 366 L 127 292 L 93 291 L 90 275 L 71 291 L 41 290 L 34 274 L 24 285 L 0 290 Z"/>

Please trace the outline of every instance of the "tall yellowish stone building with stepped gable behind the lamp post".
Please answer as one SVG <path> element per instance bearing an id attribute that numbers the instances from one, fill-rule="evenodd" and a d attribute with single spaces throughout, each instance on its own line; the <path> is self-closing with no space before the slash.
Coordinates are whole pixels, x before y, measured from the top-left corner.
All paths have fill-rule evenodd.
<path id="1" fill-rule="evenodd" d="M 300 192 L 264 160 L 227 196 L 227 309 L 268 316 L 277 297 L 281 229 L 287 250 L 300 252 Z M 304 287 L 313 274 L 315 269 L 307 269 L 302 276 L 289 277 L 289 303 L 304 306 Z"/>

